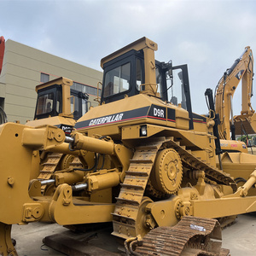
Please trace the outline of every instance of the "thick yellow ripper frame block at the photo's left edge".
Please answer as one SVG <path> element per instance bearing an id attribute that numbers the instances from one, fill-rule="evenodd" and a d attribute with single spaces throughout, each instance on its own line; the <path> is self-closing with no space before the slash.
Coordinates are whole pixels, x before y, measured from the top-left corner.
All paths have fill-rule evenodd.
<path id="1" fill-rule="evenodd" d="M 43 126 L 32 128 L 25 125 L 7 123 L 0 126 L 1 139 L 1 198 L 3 206 L 9 205 L 9 214 L 1 211 L 1 222 L 5 224 L 22 223 L 26 216 L 26 205 L 31 204 L 33 209 L 38 207 L 38 217 L 43 215 L 43 207 L 35 203 L 28 195 L 28 184 L 32 170 L 34 150 L 45 150 L 64 142 L 64 132 L 55 127 Z M 17 158 L 9 159 L 9 151 Z M 19 172 L 22 166 L 22 172 Z M 12 171 L 10 171 L 12 170 Z M 10 201 L 15 203 L 10 204 Z M 22 217 L 23 212 L 23 217 Z M 40 213 L 40 214 L 39 214 Z M 29 213 L 28 213 L 29 214 Z M 37 219 L 35 218 L 35 219 Z"/>

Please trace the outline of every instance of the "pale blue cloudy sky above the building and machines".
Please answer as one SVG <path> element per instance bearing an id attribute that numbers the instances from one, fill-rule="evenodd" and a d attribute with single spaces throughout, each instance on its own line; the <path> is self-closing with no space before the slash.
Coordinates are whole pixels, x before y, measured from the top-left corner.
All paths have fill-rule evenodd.
<path id="1" fill-rule="evenodd" d="M 6 40 L 100 71 L 102 57 L 147 37 L 158 61 L 188 64 L 195 113 L 244 48 L 256 52 L 254 0 L 0 0 L 0 17 Z M 239 114 L 241 85 L 234 102 Z"/>

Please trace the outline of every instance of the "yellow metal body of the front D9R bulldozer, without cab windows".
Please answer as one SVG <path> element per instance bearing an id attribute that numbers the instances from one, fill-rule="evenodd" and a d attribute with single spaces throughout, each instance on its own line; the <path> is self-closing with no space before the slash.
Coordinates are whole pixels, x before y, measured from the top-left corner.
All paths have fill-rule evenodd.
<path id="1" fill-rule="evenodd" d="M 191 128 L 189 112 L 156 93 L 157 44 L 142 38 L 102 59 L 102 65 L 130 49 L 143 50 L 148 86 L 135 96 L 91 108 L 66 143 L 63 131 L 52 126 L 0 126 L 3 255 L 15 255 L 11 224 L 113 222 L 113 235 L 129 238 L 177 224 L 183 216 L 222 218 L 256 211 L 255 157 L 225 153 L 220 170 L 212 120 L 196 115 Z M 50 172 L 44 183 L 32 178 L 38 174 L 39 149 L 77 158 Z M 248 180 L 239 193 L 227 172 Z"/>

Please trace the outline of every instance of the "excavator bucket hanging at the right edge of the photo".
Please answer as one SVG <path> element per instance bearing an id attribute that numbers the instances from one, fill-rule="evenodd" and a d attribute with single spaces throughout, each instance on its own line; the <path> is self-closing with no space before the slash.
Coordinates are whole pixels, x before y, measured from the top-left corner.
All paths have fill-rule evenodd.
<path id="1" fill-rule="evenodd" d="M 236 135 L 241 136 L 244 131 L 247 134 L 256 133 L 256 113 L 253 113 L 252 116 L 237 115 L 234 117 L 234 125 L 236 127 Z"/>

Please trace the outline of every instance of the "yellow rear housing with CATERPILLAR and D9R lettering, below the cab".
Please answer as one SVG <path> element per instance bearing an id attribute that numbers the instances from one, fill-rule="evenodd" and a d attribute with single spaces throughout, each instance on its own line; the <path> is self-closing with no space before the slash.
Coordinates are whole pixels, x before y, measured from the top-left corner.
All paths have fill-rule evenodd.
<path id="1" fill-rule="evenodd" d="M 154 116 L 148 114 L 148 108 L 152 105 L 157 105 L 166 109 L 172 108 L 172 111 L 175 112 L 176 115 L 176 122 L 167 118 L 159 119 L 157 121 L 158 125 L 161 125 L 162 127 L 167 126 L 176 129 L 189 130 L 189 113 L 183 108 L 167 102 L 162 102 L 159 98 L 139 94 L 137 96 L 125 97 L 118 103 L 118 113 L 116 111 L 117 102 L 110 102 L 97 108 L 91 108 L 88 113 L 79 119 L 79 126 L 76 128 L 77 131 L 86 132 L 89 136 L 92 136 L 93 134 L 101 134 L 108 135 L 113 139 L 124 138 L 125 135 L 123 135 L 123 132 L 119 131 L 120 125 L 126 128 L 127 125 L 140 125 L 143 123 L 155 124 L 155 119 L 152 119 Z M 132 119 L 129 116 L 125 119 L 126 113 L 131 111 L 134 111 L 135 113 L 132 115 Z M 136 111 L 143 111 L 145 114 L 141 116 L 139 113 L 136 113 Z M 117 123 L 118 125 L 116 125 Z M 155 129 L 157 129 L 157 126 Z M 206 126 L 204 126 L 204 131 L 206 131 Z M 138 137 L 138 132 L 136 137 L 135 135 L 131 135 L 131 137 Z M 127 138 L 131 137 L 128 136 Z"/>

